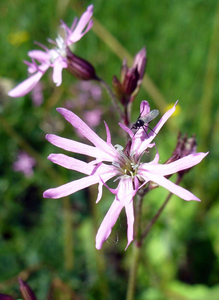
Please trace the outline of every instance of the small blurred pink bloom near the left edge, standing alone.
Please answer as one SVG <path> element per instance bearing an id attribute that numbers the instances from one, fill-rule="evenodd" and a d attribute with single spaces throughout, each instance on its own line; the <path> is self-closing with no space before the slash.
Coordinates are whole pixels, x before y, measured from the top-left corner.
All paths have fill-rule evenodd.
<path id="1" fill-rule="evenodd" d="M 36 161 L 25 151 L 21 151 L 17 156 L 17 161 L 13 163 L 13 170 L 15 172 L 23 172 L 26 177 L 34 175 L 33 167 L 36 165 Z"/>

